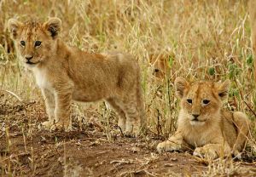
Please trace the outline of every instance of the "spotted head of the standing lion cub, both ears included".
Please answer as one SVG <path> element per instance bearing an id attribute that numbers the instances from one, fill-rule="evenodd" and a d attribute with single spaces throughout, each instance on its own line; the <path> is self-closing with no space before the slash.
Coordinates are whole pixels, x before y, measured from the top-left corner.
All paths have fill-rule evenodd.
<path id="1" fill-rule="evenodd" d="M 61 31 L 61 20 L 50 18 L 41 23 L 30 20 L 22 23 L 15 19 L 8 21 L 8 28 L 15 46 L 26 66 L 38 66 L 55 53 L 57 37 Z"/>

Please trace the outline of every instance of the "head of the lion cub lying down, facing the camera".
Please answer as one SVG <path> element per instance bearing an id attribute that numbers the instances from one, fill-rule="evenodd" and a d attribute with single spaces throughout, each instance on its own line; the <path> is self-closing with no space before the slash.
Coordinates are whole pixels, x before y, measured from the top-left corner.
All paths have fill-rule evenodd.
<path id="1" fill-rule="evenodd" d="M 181 98 L 183 118 L 192 125 L 203 125 L 218 117 L 222 102 L 228 97 L 230 80 L 224 83 L 187 82 L 183 77 L 175 80 L 176 94 Z"/>

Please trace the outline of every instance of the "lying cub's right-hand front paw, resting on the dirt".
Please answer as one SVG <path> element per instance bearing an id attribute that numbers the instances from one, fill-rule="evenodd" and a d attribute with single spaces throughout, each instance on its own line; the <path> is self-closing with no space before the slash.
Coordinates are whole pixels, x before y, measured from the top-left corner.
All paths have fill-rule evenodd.
<path id="1" fill-rule="evenodd" d="M 215 151 L 210 147 L 203 146 L 203 147 L 195 148 L 195 151 L 193 152 L 193 156 L 206 158 L 207 160 L 214 160 L 218 158 L 218 153 L 217 151 Z"/>

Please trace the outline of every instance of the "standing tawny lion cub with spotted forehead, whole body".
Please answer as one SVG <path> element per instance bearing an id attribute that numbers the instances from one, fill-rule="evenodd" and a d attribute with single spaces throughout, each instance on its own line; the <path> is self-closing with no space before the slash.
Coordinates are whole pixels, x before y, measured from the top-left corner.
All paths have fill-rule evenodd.
<path id="1" fill-rule="evenodd" d="M 45 128 L 71 126 L 71 102 L 107 100 L 119 114 L 119 127 L 137 136 L 143 126 L 140 67 L 130 54 L 89 54 L 59 37 L 61 20 L 8 22 L 21 60 L 32 70 L 44 95 Z"/>

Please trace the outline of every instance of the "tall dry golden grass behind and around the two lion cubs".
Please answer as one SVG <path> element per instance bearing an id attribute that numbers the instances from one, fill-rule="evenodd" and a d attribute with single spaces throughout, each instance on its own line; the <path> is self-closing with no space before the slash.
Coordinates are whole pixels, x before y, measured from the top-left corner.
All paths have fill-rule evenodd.
<path id="1" fill-rule="evenodd" d="M 61 18 L 62 37 L 71 45 L 89 52 L 118 49 L 137 56 L 143 68 L 148 127 L 160 138 L 168 137 L 176 128 L 178 100 L 173 81 L 177 76 L 215 81 L 230 78 L 230 100 L 225 106 L 232 111 L 245 111 L 255 122 L 256 89 L 252 81 L 253 57 L 246 0 L 2 0 L 1 100 L 15 104 L 40 97 L 32 74 L 24 71 L 16 59 L 6 30 L 7 20 L 12 17 L 26 20 L 30 16 L 45 20 L 49 15 Z M 151 54 L 172 54 L 171 71 L 166 78 L 160 80 L 152 75 Z M 76 117 L 86 117 L 88 112 L 84 110 L 90 106 L 103 115 L 104 131 L 111 140 L 111 128 L 105 117 L 112 112 L 105 109 L 102 102 L 75 105 Z M 251 134 L 248 153 L 255 156 L 255 123 Z M 212 168 L 209 173 L 213 173 Z"/>

